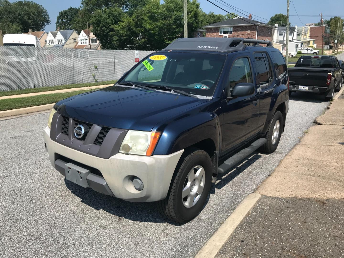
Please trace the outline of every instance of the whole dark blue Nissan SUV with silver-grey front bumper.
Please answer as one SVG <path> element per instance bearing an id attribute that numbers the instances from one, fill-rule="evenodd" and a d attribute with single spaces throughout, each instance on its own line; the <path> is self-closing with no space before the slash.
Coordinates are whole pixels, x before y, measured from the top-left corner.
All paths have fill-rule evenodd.
<path id="1" fill-rule="evenodd" d="M 65 180 L 156 201 L 183 223 L 201 212 L 218 174 L 258 148 L 276 150 L 288 102 L 287 66 L 270 41 L 177 39 L 114 86 L 56 103 L 44 142 Z"/>

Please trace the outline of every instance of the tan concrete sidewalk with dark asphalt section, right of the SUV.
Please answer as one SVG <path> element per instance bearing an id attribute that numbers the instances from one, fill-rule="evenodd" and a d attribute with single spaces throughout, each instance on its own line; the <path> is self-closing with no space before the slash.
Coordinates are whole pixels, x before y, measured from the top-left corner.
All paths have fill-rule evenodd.
<path id="1" fill-rule="evenodd" d="M 344 98 L 257 189 L 216 257 L 344 257 Z"/>

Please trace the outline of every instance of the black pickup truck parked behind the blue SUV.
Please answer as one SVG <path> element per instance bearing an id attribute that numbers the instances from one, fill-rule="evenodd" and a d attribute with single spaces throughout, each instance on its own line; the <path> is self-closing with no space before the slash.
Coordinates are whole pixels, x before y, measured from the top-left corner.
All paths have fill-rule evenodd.
<path id="1" fill-rule="evenodd" d="M 312 92 L 331 101 L 334 92 L 342 88 L 343 68 L 335 56 L 301 56 L 295 67 L 288 68 L 289 96 L 296 91 Z"/>

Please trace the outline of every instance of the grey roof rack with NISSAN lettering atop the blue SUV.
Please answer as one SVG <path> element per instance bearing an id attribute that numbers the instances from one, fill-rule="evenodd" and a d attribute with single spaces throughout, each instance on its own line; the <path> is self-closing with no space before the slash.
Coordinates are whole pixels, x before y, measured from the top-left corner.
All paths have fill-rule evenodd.
<path id="1" fill-rule="evenodd" d="M 265 44 L 267 47 L 272 47 L 272 43 L 269 40 L 243 39 L 241 37 L 192 37 L 176 39 L 163 50 L 207 50 L 214 52 L 229 52 L 234 50 L 243 50 L 246 47 L 244 43 L 250 43 L 252 46 Z"/>

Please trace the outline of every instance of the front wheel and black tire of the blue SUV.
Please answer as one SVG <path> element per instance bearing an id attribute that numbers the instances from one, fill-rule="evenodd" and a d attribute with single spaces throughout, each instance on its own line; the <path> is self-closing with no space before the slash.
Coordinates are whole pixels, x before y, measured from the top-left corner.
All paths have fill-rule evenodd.
<path id="1" fill-rule="evenodd" d="M 212 184 L 212 170 L 212 161 L 208 153 L 197 148 L 186 149 L 174 171 L 167 197 L 157 202 L 159 211 L 177 223 L 185 223 L 195 218 L 202 211 L 208 197 Z M 200 179 L 195 177 L 197 173 L 201 173 Z M 198 194 L 200 186 L 203 186 L 203 191 Z M 187 194 L 184 198 L 183 189 Z"/>

